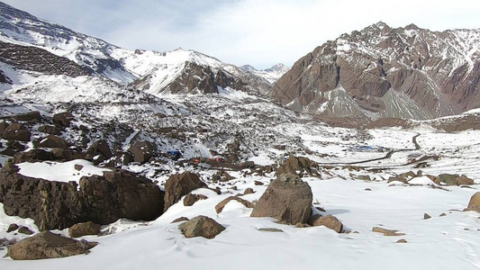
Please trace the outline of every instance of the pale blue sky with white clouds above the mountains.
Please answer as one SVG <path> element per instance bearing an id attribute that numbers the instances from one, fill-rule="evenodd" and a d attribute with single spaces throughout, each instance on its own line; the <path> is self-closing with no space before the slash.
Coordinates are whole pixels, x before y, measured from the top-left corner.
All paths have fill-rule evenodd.
<path id="1" fill-rule="evenodd" d="M 480 0 L 0 0 L 128 49 L 195 49 L 257 68 L 383 21 L 480 28 Z"/>

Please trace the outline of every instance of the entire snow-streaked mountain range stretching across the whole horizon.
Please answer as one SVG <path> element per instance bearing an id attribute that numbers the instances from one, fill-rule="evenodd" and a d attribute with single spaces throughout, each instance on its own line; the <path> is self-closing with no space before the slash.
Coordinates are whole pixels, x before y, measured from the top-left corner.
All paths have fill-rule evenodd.
<path id="1" fill-rule="evenodd" d="M 480 106 L 478 29 L 376 23 L 322 44 L 291 68 L 257 70 L 195 50 L 122 49 L 0 3 L 0 42 L 0 90 L 36 100 L 50 93 L 58 102 L 98 102 L 114 93 L 124 102 L 235 89 L 297 112 L 370 120 L 433 119 Z"/>

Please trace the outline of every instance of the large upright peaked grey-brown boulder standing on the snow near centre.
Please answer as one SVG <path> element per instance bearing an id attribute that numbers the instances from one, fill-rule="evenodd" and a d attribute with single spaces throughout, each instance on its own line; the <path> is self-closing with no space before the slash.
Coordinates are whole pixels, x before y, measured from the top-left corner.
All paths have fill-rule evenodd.
<path id="1" fill-rule="evenodd" d="M 312 214 L 312 189 L 297 175 L 278 175 L 255 204 L 251 217 L 272 217 L 280 223 L 306 223 Z"/>

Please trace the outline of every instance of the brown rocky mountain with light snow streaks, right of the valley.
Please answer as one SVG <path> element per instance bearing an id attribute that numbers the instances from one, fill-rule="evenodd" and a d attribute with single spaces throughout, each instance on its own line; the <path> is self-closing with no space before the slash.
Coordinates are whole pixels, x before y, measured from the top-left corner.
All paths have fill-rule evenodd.
<path id="1" fill-rule="evenodd" d="M 270 96 L 327 116 L 431 119 L 480 105 L 480 30 L 376 23 L 300 58 Z"/>

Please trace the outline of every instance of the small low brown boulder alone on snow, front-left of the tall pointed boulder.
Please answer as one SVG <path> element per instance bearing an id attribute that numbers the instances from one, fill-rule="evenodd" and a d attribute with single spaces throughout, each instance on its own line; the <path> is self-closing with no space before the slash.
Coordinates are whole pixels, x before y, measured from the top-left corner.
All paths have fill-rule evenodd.
<path id="1" fill-rule="evenodd" d="M 182 231 L 186 238 L 204 237 L 211 239 L 220 234 L 225 227 L 209 217 L 197 216 L 178 225 L 178 229 Z"/>

